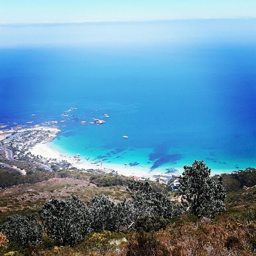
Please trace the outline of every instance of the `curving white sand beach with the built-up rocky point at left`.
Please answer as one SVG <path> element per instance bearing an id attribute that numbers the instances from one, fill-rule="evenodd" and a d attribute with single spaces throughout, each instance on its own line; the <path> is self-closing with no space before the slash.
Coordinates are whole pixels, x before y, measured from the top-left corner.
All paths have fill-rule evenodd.
<path id="1" fill-rule="evenodd" d="M 50 124 L 50 123 L 49 123 Z M 166 171 L 166 169 L 157 168 L 150 170 L 148 166 L 129 166 L 128 164 L 120 163 L 105 163 L 103 162 L 102 168 L 100 159 L 97 162 L 92 163 L 90 156 L 74 157 L 70 154 L 62 154 L 59 151 L 52 148 L 49 144 L 52 142 L 61 130 L 57 126 L 31 126 L 30 128 L 24 128 L 24 126 L 17 126 L 9 130 L 0 130 L 1 140 L 0 144 L 2 146 L 9 147 L 14 150 L 16 159 L 21 159 L 24 156 L 30 158 L 44 158 L 48 161 L 48 164 L 60 165 L 61 162 L 67 162 L 71 164 L 71 167 L 76 167 L 77 169 L 83 170 L 95 170 L 102 171 L 105 173 L 116 172 L 120 175 L 127 177 L 144 177 L 152 178 L 155 175 L 181 175 L 184 171 L 183 166 L 175 167 L 177 172 Z M 22 149 L 21 149 L 22 148 Z M 21 151 L 21 152 L 20 152 Z M 31 157 L 31 155 L 34 157 Z M 79 154 L 78 154 L 79 155 Z M 56 159 L 56 160 L 55 160 Z M 186 165 L 191 165 L 187 163 Z M 215 174 L 230 173 L 234 171 L 233 169 L 212 169 L 211 176 Z"/>

